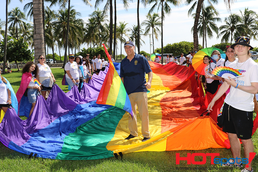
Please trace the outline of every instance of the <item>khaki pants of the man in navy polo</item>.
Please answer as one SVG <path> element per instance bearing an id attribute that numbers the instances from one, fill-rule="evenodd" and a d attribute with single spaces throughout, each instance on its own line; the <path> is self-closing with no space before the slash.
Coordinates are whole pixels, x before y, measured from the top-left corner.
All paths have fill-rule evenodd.
<path id="1" fill-rule="evenodd" d="M 133 118 L 129 114 L 128 128 L 130 134 L 138 136 L 137 117 L 136 117 L 136 104 L 138 107 L 140 119 L 142 120 L 142 136 L 150 137 L 149 132 L 149 113 L 148 113 L 148 98 L 146 92 L 131 93 L 128 95 L 133 111 Z"/>

